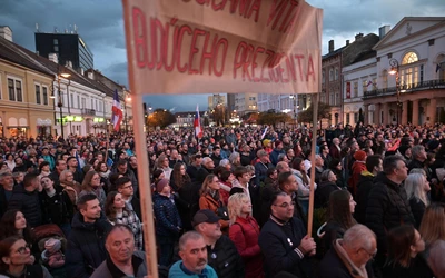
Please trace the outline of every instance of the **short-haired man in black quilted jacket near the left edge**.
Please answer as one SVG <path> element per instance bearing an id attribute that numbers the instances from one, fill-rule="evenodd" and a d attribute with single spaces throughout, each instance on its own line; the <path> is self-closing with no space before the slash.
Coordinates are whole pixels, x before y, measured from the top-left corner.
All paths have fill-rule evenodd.
<path id="1" fill-rule="evenodd" d="M 43 216 L 38 188 L 39 176 L 27 173 L 23 185 L 17 185 L 12 190 L 11 199 L 8 202 L 8 210 L 18 209 L 23 212 L 29 227 L 34 228 L 43 224 Z"/>

